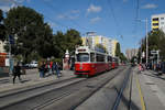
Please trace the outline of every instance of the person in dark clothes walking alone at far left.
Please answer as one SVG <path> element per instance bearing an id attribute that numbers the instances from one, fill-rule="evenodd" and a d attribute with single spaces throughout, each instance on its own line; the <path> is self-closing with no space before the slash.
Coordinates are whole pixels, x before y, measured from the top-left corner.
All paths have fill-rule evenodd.
<path id="1" fill-rule="evenodd" d="M 21 82 L 21 66 L 19 62 L 13 68 L 13 84 L 15 82 L 16 76 L 19 77 L 19 80 Z"/>

